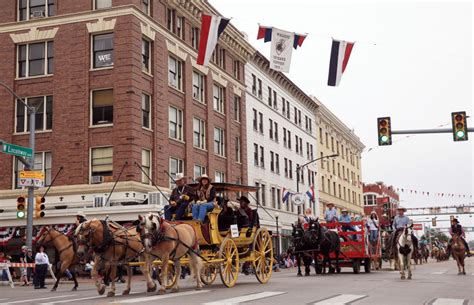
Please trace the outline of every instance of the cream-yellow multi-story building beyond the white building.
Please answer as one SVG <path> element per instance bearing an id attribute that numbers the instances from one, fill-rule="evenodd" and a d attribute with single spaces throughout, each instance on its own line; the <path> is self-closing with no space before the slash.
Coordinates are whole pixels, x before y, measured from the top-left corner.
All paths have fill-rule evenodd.
<path id="1" fill-rule="evenodd" d="M 318 157 L 338 155 L 317 162 L 320 216 L 328 203 L 335 204 L 339 212 L 345 208 L 353 216 L 362 216 L 361 154 L 365 146 L 324 104 L 313 99 L 318 104 Z"/>

